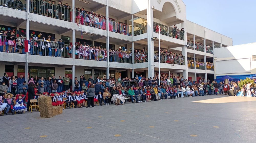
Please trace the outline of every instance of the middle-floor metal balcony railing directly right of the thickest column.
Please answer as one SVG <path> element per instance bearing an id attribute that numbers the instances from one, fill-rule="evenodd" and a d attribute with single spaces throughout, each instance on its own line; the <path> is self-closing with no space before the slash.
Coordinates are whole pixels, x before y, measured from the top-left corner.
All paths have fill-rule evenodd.
<path id="1" fill-rule="evenodd" d="M 154 52 L 154 61 L 158 62 L 159 52 Z M 160 63 L 185 65 L 183 55 L 160 53 Z"/>

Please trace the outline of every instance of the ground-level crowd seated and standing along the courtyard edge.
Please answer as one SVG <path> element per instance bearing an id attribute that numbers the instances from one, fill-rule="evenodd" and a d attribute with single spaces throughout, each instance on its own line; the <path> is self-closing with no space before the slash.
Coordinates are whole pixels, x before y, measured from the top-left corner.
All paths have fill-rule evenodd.
<path id="1" fill-rule="evenodd" d="M 160 79 L 160 82 L 159 82 Z M 161 101 L 163 99 L 175 99 L 177 96 L 196 97 L 204 95 L 228 94 L 229 89 L 233 89 L 235 94 L 243 91 L 241 94 L 255 94 L 256 85 L 245 84 L 243 89 L 239 89 L 237 83 L 223 84 L 222 82 L 205 80 L 200 78 L 198 81 L 184 79 L 170 75 L 146 78 L 143 75 L 136 75 L 133 79 L 121 76 L 117 79 L 114 77 L 99 77 L 93 79 L 90 76 L 86 79 L 84 76 L 70 79 L 69 75 L 65 77 L 30 77 L 27 80 L 20 74 L 19 77 L 11 76 L 4 73 L 0 78 L 0 111 L 12 113 L 23 113 L 27 111 L 30 105 L 30 99 L 38 99 L 41 96 L 50 96 L 52 106 L 62 106 L 71 108 L 87 108 L 95 105 L 123 105 L 125 102 L 146 103 Z M 72 88 L 74 82 L 74 90 Z M 28 83 L 28 85 L 27 85 Z M 3 101 L 3 102 L 2 102 Z M 14 102 L 16 101 L 16 102 Z M 15 103 L 15 105 L 14 105 Z M 65 103 L 65 104 L 64 104 Z M 64 107 L 65 105 L 65 107 Z"/>

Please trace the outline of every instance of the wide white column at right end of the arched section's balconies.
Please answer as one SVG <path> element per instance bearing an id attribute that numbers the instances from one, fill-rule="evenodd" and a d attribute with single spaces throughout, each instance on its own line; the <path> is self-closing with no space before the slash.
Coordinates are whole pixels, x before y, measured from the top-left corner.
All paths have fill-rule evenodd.
<path id="1" fill-rule="evenodd" d="M 181 27 L 187 27 L 187 23 L 186 23 L 186 21 L 183 21 L 182 23 L 181 23 Z M 185 29 L 184 28 L 184 29 Z M 185 32 L 184 32 L 184 39 L 185 39 L 185 45 L 187 45 L 187 29 L 185 29 Z M 183 70 L 183 76 L 184 76 L 184 79 L 188 79 L 188 53 L 187 53 L 187 47 L 186 46 L 182 46 L 182 54 L 183 54 L 183 56 L 184 56 L 184 63 L 185 63 L 185 70 Z"/>

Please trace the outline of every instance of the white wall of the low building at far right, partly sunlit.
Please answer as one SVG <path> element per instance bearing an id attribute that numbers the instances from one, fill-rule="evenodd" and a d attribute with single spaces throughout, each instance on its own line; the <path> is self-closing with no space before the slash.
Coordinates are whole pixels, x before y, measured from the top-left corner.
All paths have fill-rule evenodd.
<path id="1" fill-rule="evenodd" d="M 214 49 L 216 75 L 256 74 L 256 43 Z"/>

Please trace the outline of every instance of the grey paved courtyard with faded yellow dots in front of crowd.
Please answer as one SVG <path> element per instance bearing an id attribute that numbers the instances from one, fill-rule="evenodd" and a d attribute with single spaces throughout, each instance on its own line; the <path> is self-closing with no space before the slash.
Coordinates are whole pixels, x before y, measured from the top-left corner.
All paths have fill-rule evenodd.
<path id="1" fill-rule="evenodd" d="M 255 142 L 256 101 L 193 102 L 212 98 L 230 100 L 199 96 L 65 109 L 52 118 L 2 116 L 0 142 Z"/>

